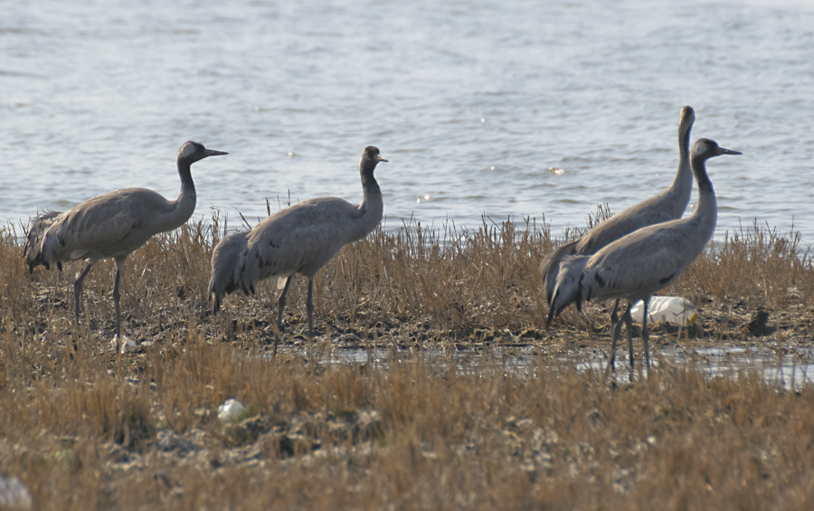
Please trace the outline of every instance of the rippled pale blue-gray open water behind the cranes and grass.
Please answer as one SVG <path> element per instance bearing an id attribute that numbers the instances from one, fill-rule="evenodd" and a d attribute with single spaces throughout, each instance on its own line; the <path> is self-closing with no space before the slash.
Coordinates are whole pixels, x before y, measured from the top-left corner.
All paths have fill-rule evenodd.
<path id="1" fill-rule="evenodd" d="M 385 227 L 511 215 L 558 234 L 666 187 L 691 105 L 693 139 L 743 151 L 708 166 L 716 237 L 757 219 L 810 244 L 812 48 L 805 1 L 13 3 L 0 221 L 123 186 L 175 196 L 194 139 L 230 152 L 194 166 L 194 218 L 359 201 L 373 144 Z"/>

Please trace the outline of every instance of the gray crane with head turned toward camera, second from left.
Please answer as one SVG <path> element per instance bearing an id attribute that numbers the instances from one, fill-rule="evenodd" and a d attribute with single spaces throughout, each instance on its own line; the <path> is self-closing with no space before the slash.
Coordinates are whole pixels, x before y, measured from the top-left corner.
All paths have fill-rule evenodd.
<path id="1" fill-rule="evenodd" d="M 293 275 L 300 273 L 308 277 L 308 336 L 313 339 L 314 275 L 345 244 L 363 239 L 382 221 L 384 204 L 374 169 L 386 161 L 378 148 L 364 148 L 359 162 L 362 203 L 352 204 L 338 197 L 308 199 L 279 210 L 251 231 L 223 238 L 212 254 L 209 296 L 213 314 L 226 294 L 237 289 L 246 295 L 254 293 L 260 280 L 276 277 L 282 289 L 277 309 L 277 326 L 282 332 L 286 292 Z"/>

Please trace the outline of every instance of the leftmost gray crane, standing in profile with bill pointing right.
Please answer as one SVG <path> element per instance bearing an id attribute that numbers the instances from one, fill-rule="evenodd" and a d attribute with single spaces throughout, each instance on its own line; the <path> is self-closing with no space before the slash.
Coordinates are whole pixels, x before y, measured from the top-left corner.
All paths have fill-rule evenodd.
<path id="1" fill-rule="evenodd" d="M 87 260 L 88 266 L 73 284 L 75 318 L 79 325 L 82 280 L 97 261 L 116 261 L 113 304 L 116 310 L 116 337 L 121 338 L 121 311 L 118 305 L 118 279 L 130 252 L 158 232 L 183 225 L 195 209 L 195 185 L 190 166 L 207 156 L 225 155 L 197 142 L 185 142 L 176 156 L 181 176 L 181 193 L 174 201 L 146 188 L 122 188 L 99 195 L 65 213 L 47 212 L 35 218 L 28 230 L 24 257 L 29 272 L 52 264 L 62 270 L 62 262 Z"/>

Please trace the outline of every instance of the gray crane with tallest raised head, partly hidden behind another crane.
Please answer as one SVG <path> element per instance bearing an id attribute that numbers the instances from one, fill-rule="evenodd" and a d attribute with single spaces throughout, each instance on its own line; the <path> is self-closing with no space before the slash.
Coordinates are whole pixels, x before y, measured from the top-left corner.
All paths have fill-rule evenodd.
<path id="1" fill-rule="evenodd" d="M 632 205 L 616 213 L 608 220 L 595 225 L 579 240 L 565 243 L 543 260 L 543 286 L 545 300 L 551 307 L 554 298 L 557 274 L 560 272 L 560 263 L 572 254 L 591 255 L 611 241 L 654 223 L 668 222 L 681 218 L 689 203 L 693 192 L 693 171 L 689 164 L 689 137 L 696 112 L 691 107 L 681 109 L 678 118 L 678 170 L 673 182 L 666 190 L 648 200 Z"/>

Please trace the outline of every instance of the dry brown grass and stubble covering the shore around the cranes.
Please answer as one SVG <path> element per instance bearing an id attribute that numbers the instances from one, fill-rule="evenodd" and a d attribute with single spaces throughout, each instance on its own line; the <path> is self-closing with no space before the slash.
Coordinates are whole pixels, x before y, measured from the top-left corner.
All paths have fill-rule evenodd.
<path id="1" fill-rule="evenodd" d="M 389 356 L 380 366 L 305 363 L 302 279 L 289 290 L 294 349 L 275 360 L 271 283 L 209 315 L 219 220 L 157 236 L 128 259 L 123 329 L 151 343 L 116 358 L 105 349 L 113 265 L 85 279 L 77 329 L 80 265 L 29 276 L 20 233 L 0 232 L 0 476 L 20 477 L 37 508 L 814 505 L 810 386 L 669 364 L 618 386 L 557 356 L 564 338 L 606 343 L 607 308 L 542 330 L 537 267 L 556 242 L 545 224 L 414 224 L 345 247 L 315 282 L 318 347 L 378 346 Z M 810 344 L 812 275 L 798 238 L 753 228 L 667 293 L 700 306 L 698 340 L 740 335 L 763 308 L 772 332 L 743 336 Z M 497 345 L 518 341 L 537 355 L 506 365 L 514 358 Z M 419 348 L 431 345 L 477 349 L 454 362 L 425 358 Z M 216 409 L 230 397 L 249 412 L 224 425 Z"/>

